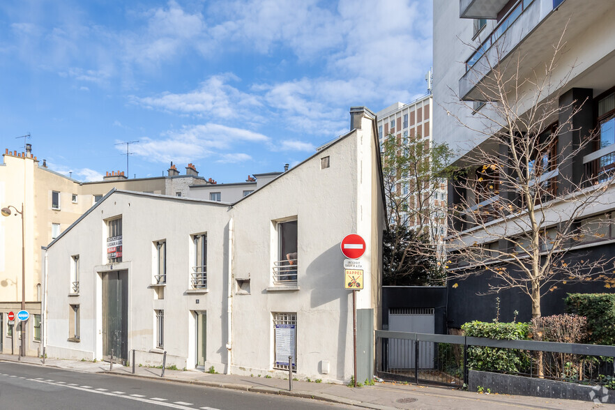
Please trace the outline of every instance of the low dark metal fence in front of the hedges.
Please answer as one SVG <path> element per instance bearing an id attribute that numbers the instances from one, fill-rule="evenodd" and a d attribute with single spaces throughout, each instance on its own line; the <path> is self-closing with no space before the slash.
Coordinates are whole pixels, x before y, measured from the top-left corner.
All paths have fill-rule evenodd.
<path id="1" fill-rule="evenodd" d="M 615 346 L 376 331 L 376 349 L 376 374 L 388 380 L 460 387 L 468 384 L 468 370 L 482 370 L 615 384 Z M 494 360 L 502 356 L 509 360 Z"/>

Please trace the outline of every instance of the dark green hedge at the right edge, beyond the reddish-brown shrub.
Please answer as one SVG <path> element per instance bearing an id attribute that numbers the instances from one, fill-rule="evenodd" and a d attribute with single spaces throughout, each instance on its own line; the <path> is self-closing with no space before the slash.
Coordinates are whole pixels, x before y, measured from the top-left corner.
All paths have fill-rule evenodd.
<path id="1" fill-rule="evenodd" d="M 566 311 L 587 318 L 585 342 L 615 344 L 615 294 L 568 294 Z"/>

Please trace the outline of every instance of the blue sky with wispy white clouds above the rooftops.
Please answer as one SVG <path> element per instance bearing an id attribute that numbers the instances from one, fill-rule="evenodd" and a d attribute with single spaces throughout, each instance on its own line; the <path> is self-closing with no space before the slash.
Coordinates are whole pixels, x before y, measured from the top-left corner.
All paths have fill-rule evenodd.
<path id="1" fill-rule="evenodd" d="M 282 171 L 427 92 L 430 0 L 0 2 L 0 150 L 98 181 Z M 69 174 L 72 173 L 72 174 Z"/>

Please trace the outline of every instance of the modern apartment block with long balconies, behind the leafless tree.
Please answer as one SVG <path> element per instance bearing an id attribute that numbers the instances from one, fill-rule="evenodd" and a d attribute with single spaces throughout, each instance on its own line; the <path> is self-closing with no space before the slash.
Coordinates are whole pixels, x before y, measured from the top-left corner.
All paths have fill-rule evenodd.
<path id="1" fill-rule="evenodd" d="M 540 159 L 545 179 L 538 183 L 548 184 L 551 192 L 561 196 L 581 181 L 593 181 L 590 184 L 593 185 L 612 178 L 612 169 L 615 168 L 615 4 L 612 1 L 596 0 L 590 5 L 582 0 L 434 0 L 435 10 L 434 137 L 438 142 L 447 142 L 457 152 L 455 163 L 466 171 L 463 177 L 466 181 L 487 187 L 470 192 L 462 188 L 459 181 L 450 183 L 450 208 L 470 204 L 473 206 L 462 211 L 470 215 L 478 209 L 479 214 L 485 214 L 480 209 L 495 206 L 500 199 L 512 204 L 517 201 L 515 192 L 493 189 L 501 178 L 489 174 L 489 169 L 481 168 L 485 164 L 476 161 L 478 146 L 510 158 L 510 146 L 494 144 L 494 138 L 483 132 L 483 116 L 491 115 L 485 111 L 485 107 L 489 107 L 489 98 L 485 98 L 484 90 L 493 84 L 492 68 L 496 64 L 510 69 L 506 75 L 516 70 L 517 86 L 514 86 L 514 81 L 506 83 L 501 95 L 517 109 L 520 121 L 527 118 L 537 102 L 548 98 L 556 101 L 555 114 L 536 133 L 552 133 L 558 124 L 568 121 L 570 112 L 574 112 L 570 127 L 559 129 L 556 144 Z M 533 101 L 532 82 L 523 81 L 540 80 L 540 76 L 545 75 L 545 66 L 549 66 L 554 45 L 560 38 L 563 50 L 549 71 L 551 87 L 540 100 Z M 494 98 L 501 100 L 501 97 Z M 464 126 L 460 126 L 455 118 L 460 119 Z M 584 145 L 588 139 L 591 139 L 590 143 Z M 576 152 L 579 147 L 582 149 Z M 572 152 L 575 155 L 568 155 Z M 536 163 L 535 167 L 538 166 Z M 591 186 L 586 189 L 591 189 Z M 547 234 L 555 234 L 565 222 L 565 213 L 560 212 L 563 202 L 552 200 L 556 195 L 541 199 Z M 584 258 L 592 260 L 614 255 L 614 211 L 615 192 L 612 189 L 604 192 L 600 201 L 584 207 L 574 221 L 575 226 L 596 231 L 587 235 L 582 243 L 570 243 L 570 255 L 585 255 Z M 488 223 L 491 227 L 503 226 L 502 220 Z M 455 220 L 454 230 L 461 233 L 461 243 L 508 250 L 506 240 L 493 242 L 493 238 L 483 235 L 484 229 L 478 225 L 470 216 L 466 220 Z M 508 237 L 524 233 L 510 228 L 512 226 L 512 223 L 508 225 Z M 491 320 L 493 309 L 490 306 L 494 305 L 494 299 L 476 296 L 487 290 L 485 266 L 451 268 L 482 270 L 485 275 L 466 280 L 456 289 L 449 284 L 450 326 L 458 327 L 469 319 Z M 594 281 L 573 285 L 564 282 L 551 290 L 542 299 L 543 315 L 563 312 L 566 292 L 602 292 L 609 291 L 609 287 Z M 513 310 L 518 310 L 519 319 L 529 319 L 526 308 L 529 303 L 519 303 L 526 296 L 514 290 L 502 291 L 498 296 L 503 317 L 512 318 Z M 468 303 L 469 300 L 476 303 Z"/>

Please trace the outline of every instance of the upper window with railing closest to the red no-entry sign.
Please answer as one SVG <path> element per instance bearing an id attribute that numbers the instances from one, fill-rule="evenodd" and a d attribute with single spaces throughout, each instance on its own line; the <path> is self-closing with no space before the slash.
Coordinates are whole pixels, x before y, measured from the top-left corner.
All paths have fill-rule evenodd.
<path id="1" fill-rule="evenodd" d="M 278 222 L 278 257 L 273 262 L 274 284 L 297 282 L 297 221 Z"/>

